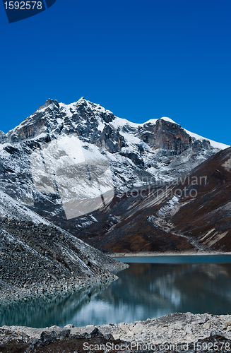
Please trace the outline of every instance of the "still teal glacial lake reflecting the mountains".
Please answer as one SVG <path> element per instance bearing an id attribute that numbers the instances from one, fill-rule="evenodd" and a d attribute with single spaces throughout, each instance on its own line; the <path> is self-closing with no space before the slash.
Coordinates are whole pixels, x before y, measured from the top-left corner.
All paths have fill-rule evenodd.
<path id="1" fill-rule="evenodd" d="M 119 258 L 119 280 L 0 306 L 0 326 L 102 325 L 168 313 L 231 313 L 231 256 Z"/>

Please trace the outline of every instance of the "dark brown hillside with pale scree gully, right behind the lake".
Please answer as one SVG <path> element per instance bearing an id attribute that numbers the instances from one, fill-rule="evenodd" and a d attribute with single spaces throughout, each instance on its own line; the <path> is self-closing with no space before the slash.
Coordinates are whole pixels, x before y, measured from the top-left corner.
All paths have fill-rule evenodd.
<path id="1" fill-rule="evenodd" d="M 172 184 L 137 192 L 115 197 L 94 214 L 97 223 L 71 232 L 115 252 L 231 251 L 231 148 Z"/>

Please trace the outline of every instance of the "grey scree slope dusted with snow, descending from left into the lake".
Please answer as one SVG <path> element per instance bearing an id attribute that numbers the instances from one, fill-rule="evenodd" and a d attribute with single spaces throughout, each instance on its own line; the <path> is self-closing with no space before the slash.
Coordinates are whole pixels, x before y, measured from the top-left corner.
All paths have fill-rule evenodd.
<path id="1" fill-rule="evenodd" d="M 0 192 L 0 298 L 114 280 L 124 268 Z"/>

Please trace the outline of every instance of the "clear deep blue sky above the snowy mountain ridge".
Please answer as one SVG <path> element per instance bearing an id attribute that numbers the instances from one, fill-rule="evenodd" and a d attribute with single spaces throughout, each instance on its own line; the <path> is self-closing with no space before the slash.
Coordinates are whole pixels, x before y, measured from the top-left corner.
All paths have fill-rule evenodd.
<path id="1" fill-rule="evenodd" d="M 84 96 L 231 145 L 230 0 L 57 0 L 11 24 L 1 2 L 0 28 L 0 130 Z"/>

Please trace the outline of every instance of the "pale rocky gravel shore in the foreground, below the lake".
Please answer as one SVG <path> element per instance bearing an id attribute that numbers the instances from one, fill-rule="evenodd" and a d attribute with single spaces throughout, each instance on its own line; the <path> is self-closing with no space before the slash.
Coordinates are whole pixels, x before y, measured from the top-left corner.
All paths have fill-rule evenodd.
<path id="1" fill-rule="evenodd" d="M 0 352 L 230 352 L 231 315 L 172 313 L 75 328 L 0 328 Z"/>

